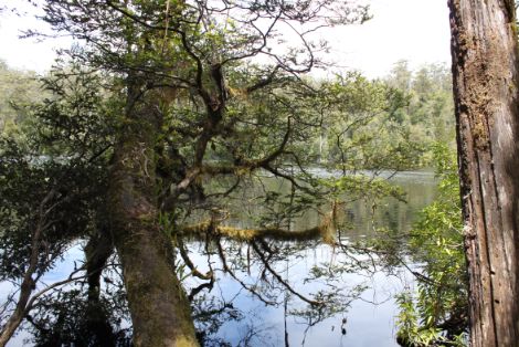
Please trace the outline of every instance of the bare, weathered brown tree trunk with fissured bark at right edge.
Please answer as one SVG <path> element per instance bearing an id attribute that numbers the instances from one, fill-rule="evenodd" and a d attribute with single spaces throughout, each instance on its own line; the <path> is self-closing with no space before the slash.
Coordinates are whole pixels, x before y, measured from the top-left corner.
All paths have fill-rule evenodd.
<path id="1" fill-rule="evenodd" d="M 512 0 L 449 0 L 472 346 L 519 344 L 518 45 Z"/>

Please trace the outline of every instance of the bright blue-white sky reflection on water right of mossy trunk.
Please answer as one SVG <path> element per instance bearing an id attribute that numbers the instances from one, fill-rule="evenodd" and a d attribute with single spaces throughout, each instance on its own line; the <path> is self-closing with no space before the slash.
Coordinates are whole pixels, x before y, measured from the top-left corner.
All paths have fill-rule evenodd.
<path id="1" fill-rule="evenodd" d="M 230 308 L 239 308 L 240 315 L 234 314 L 237 318 L 225 322 L 215 336 L 231 346 L 396 346 L 392 294 L 402 288 L 402 277 L 359 271 L 363 261 L 370 260 L 328 245 L 272 260 L 283 281 L 305 297 L 321 299 L 322 307 L 301 301 L 260 264 L 242 267 L 237 276 L 262 298 L 230 275 L 220 276 L 213 297 L 232 303 Z"/>

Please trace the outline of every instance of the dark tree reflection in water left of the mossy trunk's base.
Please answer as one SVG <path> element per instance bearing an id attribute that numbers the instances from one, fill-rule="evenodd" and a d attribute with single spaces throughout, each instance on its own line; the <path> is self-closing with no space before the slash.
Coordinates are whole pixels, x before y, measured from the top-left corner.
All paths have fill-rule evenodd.
<path id="1" fill-rule="evenodd" d="M 25 329 L 32 335 L 31 343 L 35 346 L 130 346 L 129 312 L 117 266 L 112 257 L 102 272 L 92 271 L 82 281 L 39 297 L 27 316 Z"/>

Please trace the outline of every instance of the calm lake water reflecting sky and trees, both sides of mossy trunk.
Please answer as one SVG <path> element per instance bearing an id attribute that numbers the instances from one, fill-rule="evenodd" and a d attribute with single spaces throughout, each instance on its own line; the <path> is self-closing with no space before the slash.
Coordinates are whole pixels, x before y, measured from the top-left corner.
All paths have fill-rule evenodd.
<path id="1" fill-rule="evenodd" d="M 206 345 L 398 346 L 394 324 L 399 309 L 394 295 L 412 287 L 413 277 L 402 266 L 385 267 L 382 259 L 363 253 L 356 244 L 379 238 L 374 227 L 399 233 L 407 231 L 417 211 L 434 199 L 436 181 L 431 172 L 401 172 L 391 181 L 403 188 L 407 202 L 384 199 L 373 210 L 371 202 L 360 200 L 343 207 L 348 228 L 340 233 L 342 246 L 319 240 L 299 243 L 267 240 L 256 245 L 266 257 L 262 260 L 250 244 L 223 240 L 230 274 L 224 271 L 215 246 L 189 243 L 189 255 L 197 267 L 208 271 L 210 262 L 216 272 L 211 292 L 202 292 L 194 309 L 197 326 L 206 332 Z M 239 212 L 229 224 L 250 227 L 255 222 L 251 215 L 268 209 L 251 201 L 250 196 L 251 191 L 248 198 L 244 196 L 231 207 Z M 303 230 L 317 225 L 320 219 L 309 210 L 290 220 L 289 227 Z M 73 270 L 74 260 L 82 257 L 81 245 L 73 248 L 45 280 L 52 283 L 65 277 Z M 193 278 L 184 282 L 188 293 L 201 283 Z M 0 286 L 2 294 L 7 290 Z M 316 308 L 299 296 L 317 298 L 326 306 Z M 203 314 L 208 311 L 218 314 L 208 317 Z M 28 345 L 24 344 L 28 337 L 22 332 L 9 346 Z"/>

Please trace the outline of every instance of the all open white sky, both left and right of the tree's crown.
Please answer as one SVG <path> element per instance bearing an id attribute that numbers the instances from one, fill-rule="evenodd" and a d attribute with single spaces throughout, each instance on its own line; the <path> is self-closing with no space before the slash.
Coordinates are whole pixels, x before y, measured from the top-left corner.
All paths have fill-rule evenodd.
<path id="1" fill-rule="evenodd" d="M 329 59 L 340 69 L 359 70 L 369 77 L 385 76 L 399 60 L 413 69 L 427 63 L 448 63 L 449 28 L 447 0 L 364 0 L 373 19 L 361 25 L 333 28 L 322 35 L 329 41 Z M 0 0 L 18 7 L 25 1 Z M 56 48 L 67 48 L 68 39 L 35 42 L 19 39 L 22 30 L 43 28 L 31 15 L 0 14 L 0 59 L 15 69 L 43 73 L 54 61 Z"/>

